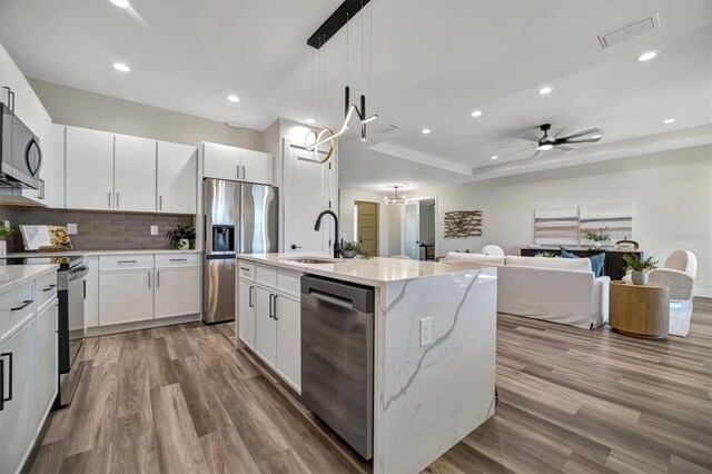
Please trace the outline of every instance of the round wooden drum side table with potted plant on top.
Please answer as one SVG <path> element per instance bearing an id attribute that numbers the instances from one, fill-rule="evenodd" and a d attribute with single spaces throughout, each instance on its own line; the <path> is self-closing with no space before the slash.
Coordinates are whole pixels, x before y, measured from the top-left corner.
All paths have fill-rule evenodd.
<path id="1" fill-rule="evenodd" d="M 611 283 L 609 324 L 629 336 L 662 339 L 670 332 L 670 289 Z"/>

